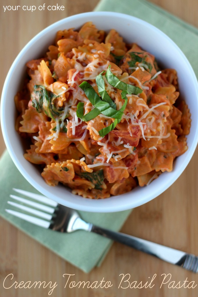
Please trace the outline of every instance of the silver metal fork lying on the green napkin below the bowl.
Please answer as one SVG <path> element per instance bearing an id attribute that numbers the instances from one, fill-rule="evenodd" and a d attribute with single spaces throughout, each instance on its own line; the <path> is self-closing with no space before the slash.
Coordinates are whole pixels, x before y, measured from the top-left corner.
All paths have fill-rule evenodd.
<path id="1" fill-rule="evenodd" d="M 153 255 L 166 262 L 181 266 L 187 270 L 198 272 L 198 257 L 186 252 L 165 247 L 161 244 L 156 244 L 141 238 L 127 235 L 120 232 L 114 232 L 105 228 L 87 223 L 81 219 L 78 212 L 74 209 L 62 206 L 55 201 L 43 196 L 27 192 L 21 189 L 13 189 L 15 192 L 37 200 L 38 202 L 21 198 L 16 195 L 10 195 L 10 198 L 17 200 L 20 203 L 8 201 L 8 203 L 16 208 L 26 211 L 29 214 L 24 214 L 19 211 L 5 209 L 9 214 L 24 219 L 35 225 L 46 229 L 51 229 L 59 232 L 70 233 L 76 230 L 85 230 L 95 232 L 107 238 L 126 244 L 147 254 Z"/>

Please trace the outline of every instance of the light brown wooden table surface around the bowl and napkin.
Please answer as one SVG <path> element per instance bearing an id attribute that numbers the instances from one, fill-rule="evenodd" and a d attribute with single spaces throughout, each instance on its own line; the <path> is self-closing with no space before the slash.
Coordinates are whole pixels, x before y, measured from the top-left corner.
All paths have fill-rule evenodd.
<path id="1" fill-rule="evenodd" d="M 124 1 L 124 0 L 123 0 Z M 177 15 L 198 27 L 197 0 L 150 0 L 169 12 Z M 56 2 L 56 1 L 55 1 Z M 54 5 L 48 1 L 48 5 Z M 133 2 L 133 0 L 131 0 Z M 0 40 L 1 40 L 1 71 L 0 89 L 12 61 L 23 46 L 40 30 L 51 23 L 79 12 L 94 9 L 98 0 L 60 0 L 64 5 L 61 12 L 4 12 L 3 5 L 42 5 L 43 1 L 1 1 L 0 12 Z M 4 142 L 0 135 L 0 154 L 4 151 Z M 132 212 L 122 232 L 145 238 L 173 248 L 181 249 L 198 255 L 198 224 L 197 224 L 197 171 L 198 151 L 194 153 L 191 162 L 180 178 L 158 198 L 146 203 Z M 1 169 L 1 174 L 3 173 Z M 14 279 L 20 281 L 51 281 L 58 282 L 51 296 L 81 296 L 81 297 L 195 297 L 198 296 L 198 276 L 177 266 L 165 263 L 155 257 L 135 251 L 119 243 L 114 243 L 100 268 L 93 269 L 85 274 L 78 268 L 65 262 L 53 252 L 38 244 L 8 222 L 0 219 L 0 296 L 1 297 L 44 297 L 48 296 L 48 289 L 5 289 L 4 278 L 12 273 Z M 76 281 L 100 281 L 103 279 L 112 282 L 110 288 L 69 288 L 65 286 L 62 275 L 75 274 Z M 119 288 L 120 274 L 129 274 L 130 283 L 137 281 L 144 285 L 156 277 L 152 288 Z M 170 280 L 161 286 L 164 275 L 169 274 Z M 162 275 L 162 276 L 161 276 Z M 167 277 L 167 281 L 169 279 Z M 182 286 L 186 280 L 188 287 Z M 170 284 L 172 282 L 172 284 Z M 175 282 L 175 283 L 173 283 Z M 177 283 L 180 282 L 180 285 Z M 189 288 L 193 285 L 194 288 Z M 127 287 L 128 283 L 122 284 Z M 176 286 L 177 288 L 168 287 Z M 182 286 L 182 287 L 181 287 Z M 161 287 L 161 288 L 160 288 Z M 180 287 L 180 288 L 178 288 Z"/>

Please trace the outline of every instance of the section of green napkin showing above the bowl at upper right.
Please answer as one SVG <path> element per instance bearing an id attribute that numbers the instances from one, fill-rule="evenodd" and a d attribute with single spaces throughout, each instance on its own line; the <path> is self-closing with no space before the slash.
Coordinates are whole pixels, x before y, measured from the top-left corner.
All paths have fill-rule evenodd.
<path id="1" fill-rule="evenodd" d="M 133 15 L 157 27 L 183 51 L 198 77 L 198 29 L 145 0 L 101 0 L 95 11 Z"/>

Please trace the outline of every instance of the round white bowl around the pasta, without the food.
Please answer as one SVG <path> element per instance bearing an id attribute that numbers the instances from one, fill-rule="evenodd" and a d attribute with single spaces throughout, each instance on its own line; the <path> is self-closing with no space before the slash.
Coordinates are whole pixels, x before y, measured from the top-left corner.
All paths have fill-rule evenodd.
<path id="1" fill-rule="evenodd" d="M 117 30 L 127 42 L 136 42 L 152 53 L 157 61 L 166 68 L 177 70 L 179 91 L 191 112 L 191 131 L 187 136 L 188 150 L 176 158 L 172 172 L 161 174 L 146 187 L 136 187 L 124 195 L 107 199 L 91 200 L 71 194 L 63 186 L 50 187 L 34 165 L 24 159 L 21 138 L 15 131 L 16 109 L 14 96 L 20 89 L 26 71 L 26 62 L 38 59 L 54 43 L 58 30 L 80 28 L 85 22 L 92 21 L 98 29 Z M 37 34 L 21 50 L 13 62 L 4 83 L 1 98 L 1 126 L 7 149 L 22 175 L 43 195 L 65 206 L 82 211 L 114 212 L 142 205 L 164 192 L 180 176 L 188 165 L 198 141 L 198 84 L 191 65 L 175 45 L 160 30 L 138 18 L 114 12 L 87 12 L 60 20 Z"/>

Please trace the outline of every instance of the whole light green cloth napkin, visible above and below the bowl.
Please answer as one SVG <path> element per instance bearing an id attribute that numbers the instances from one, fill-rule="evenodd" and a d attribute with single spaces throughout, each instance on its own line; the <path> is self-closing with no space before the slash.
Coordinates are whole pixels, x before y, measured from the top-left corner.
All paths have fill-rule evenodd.
<path id="1" fill-rule="evenodd" d="M 95 10 L 130 14 L 158 27 L 183 50 L 198 76 L 198 29 L 144 0 L 101 0 Z M 0 176 L 1 217 L 85 272 L 100 265 L 112 244 L 109 239 L 85 231 L 61 234 L 34 226 L 7 214 L 4 209 L 8 207 L 9 195 L 14 194 L 13 187 L 35 193 L 37 190 L 19 173 L 7 151 L 0 159 L 0 168 L 4 168 Z M 130 212 L 131 210 L 109 214 L 89 212 L 80 212 L 80 214 L 83 219 L 96 225 L 119 230 Z"/>

